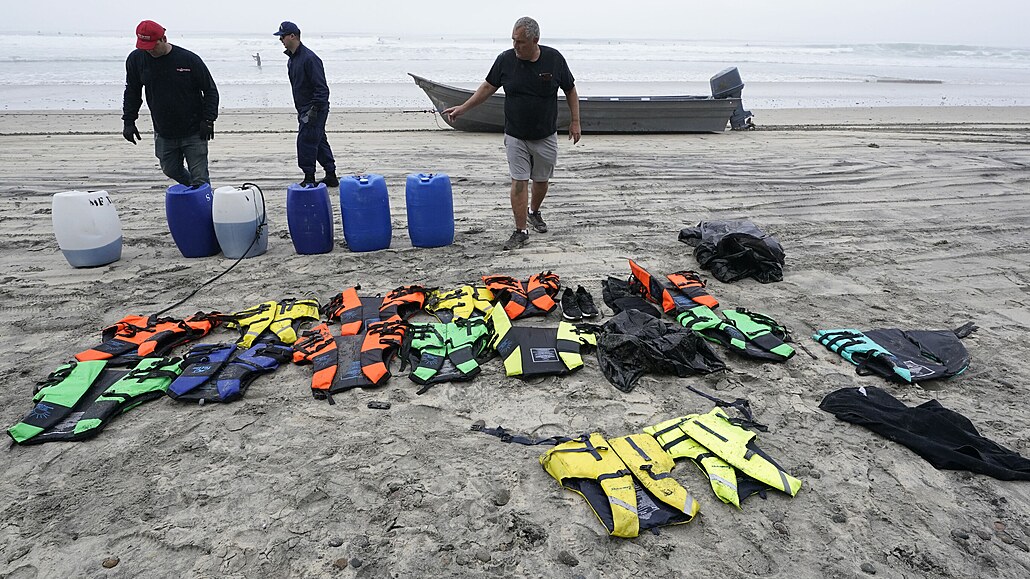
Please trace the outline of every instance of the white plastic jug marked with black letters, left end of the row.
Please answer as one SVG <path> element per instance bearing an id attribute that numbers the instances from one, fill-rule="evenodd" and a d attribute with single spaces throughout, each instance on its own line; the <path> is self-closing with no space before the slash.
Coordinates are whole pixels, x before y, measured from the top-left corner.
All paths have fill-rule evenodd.
<path id="1" fill-rule="evenodd" d="M 54 235 L 68 263 L 91 268 L 122 257 L 122 222 L 106 191 L 66 191 L 54 195 Z"/>

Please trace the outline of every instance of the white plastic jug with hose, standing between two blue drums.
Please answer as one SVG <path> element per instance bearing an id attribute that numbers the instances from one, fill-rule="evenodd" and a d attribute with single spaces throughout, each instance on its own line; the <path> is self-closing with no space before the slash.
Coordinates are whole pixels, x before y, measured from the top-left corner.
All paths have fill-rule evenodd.
<path id="1" fill-rule="evenodd" d="M 238 260 L 246 253 L 245 257 L 253 258 L 268 250 L 265 195 L 258 185 L 243 183 L 239 188 L 220 186 L 214 190 L 211 218 L 214 235 L 225 257 Z M 254 241 L 259 226 L 261 236 Z"/>

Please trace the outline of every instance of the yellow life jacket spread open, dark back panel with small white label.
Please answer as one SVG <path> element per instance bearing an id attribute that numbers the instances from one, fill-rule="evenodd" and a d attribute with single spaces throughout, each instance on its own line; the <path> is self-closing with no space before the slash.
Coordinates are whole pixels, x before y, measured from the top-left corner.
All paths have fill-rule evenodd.
<path id="1" fill-rule="evenodd" d="M 584 346 L 596 346 L 597 337 L 568 321 L 555 328 L 512 326 L 505 308 L 493 308 L 487 315 L 493 325 L 490 342 L 505 361 L 508 376 L 552 376 L 569 374 L 583 366 Z"/>

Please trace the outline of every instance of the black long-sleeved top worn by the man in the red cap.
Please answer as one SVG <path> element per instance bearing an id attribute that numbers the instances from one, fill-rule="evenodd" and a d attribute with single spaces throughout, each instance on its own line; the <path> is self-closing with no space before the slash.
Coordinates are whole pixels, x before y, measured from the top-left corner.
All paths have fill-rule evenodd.
<path id="1" fill-rule="evenodd" d="M 199 135 L 205 121 L 218 117 L 214 79 L 204 61 L 185 48 L 173 45 L 171 52 L 157 59 L 140 48 L 129 54 L 123 121 L 139 117 L 144 87 L 153 132 L 163 137 Z"/>

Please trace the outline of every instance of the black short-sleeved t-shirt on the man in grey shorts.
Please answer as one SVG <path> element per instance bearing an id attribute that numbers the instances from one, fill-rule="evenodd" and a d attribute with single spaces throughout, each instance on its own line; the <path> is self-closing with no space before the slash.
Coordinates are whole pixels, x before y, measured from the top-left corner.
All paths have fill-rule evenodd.
<path id="1" fill-rule="evenodd" d="M 497 55 L 486 81 L 505 90 L 505 133 L 537 140 L 558 130 L 558 89 L 576 87 L 561 53 L 540 46 L 537 62 L 520 60 L 511 48 Z"/>

